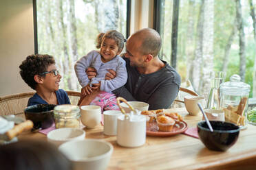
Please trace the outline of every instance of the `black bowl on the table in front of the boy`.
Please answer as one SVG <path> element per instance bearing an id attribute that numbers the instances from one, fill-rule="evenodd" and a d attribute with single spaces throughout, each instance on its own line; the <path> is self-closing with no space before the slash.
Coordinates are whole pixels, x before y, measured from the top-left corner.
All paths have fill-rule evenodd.
<path id="1" fill-rule="evenodd" d="M 54 104 L 38 104 L 25 108 L 25 119 L 34 123 L 34 130 L 46 129 L 54 123 Z"/>

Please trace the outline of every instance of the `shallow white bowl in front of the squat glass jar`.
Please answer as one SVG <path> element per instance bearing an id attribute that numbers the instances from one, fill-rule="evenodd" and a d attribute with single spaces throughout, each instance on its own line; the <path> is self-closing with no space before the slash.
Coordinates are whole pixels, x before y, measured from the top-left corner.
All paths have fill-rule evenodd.
<path id="1" fill-rule="evenodd" d="M 47 140 L 57 146 L 67 141 L 81 141 L 83 139 L 85 139 L 85 131 L 76 128 L 60 128 L 47 134 Z"/>

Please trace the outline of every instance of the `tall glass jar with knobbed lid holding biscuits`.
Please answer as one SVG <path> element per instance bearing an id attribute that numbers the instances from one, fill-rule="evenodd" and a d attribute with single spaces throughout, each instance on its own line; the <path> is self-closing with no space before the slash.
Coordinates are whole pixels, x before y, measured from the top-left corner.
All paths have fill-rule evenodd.
<path id="1" fill-rule="evenodd" d="M 250 85 L 240 80 L 239 75 L 232 75 L 230 82 L 220 85 L 220 104 L 225 112 L 225 121 L 244 128 L 247 125 Z"/>

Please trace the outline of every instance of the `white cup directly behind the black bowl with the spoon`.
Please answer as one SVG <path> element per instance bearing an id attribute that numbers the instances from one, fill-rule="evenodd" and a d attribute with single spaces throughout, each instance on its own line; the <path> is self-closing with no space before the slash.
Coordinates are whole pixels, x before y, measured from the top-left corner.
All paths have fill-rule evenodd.
<path id="1" fill-rule="evenodd" d="M 225 121 L 225 114 L 223 110 L 218 109 L 204 109 L 209 121 Z M 204 120 L 204 117 L 202 118 Z"/>

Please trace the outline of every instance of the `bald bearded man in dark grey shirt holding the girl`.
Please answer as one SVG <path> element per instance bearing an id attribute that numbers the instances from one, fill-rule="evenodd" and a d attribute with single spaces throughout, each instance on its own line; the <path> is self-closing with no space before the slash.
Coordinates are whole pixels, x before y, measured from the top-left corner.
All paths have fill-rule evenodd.
<path id="1" fill-rule="evenodd" d="M 126 45 L 125 61 L 128 80 L 113 91 L 127 101 L 144 101 L 149 110 L 169 108 L 178 95 L 180 75 L 167 62 L 158 58 L 162 40 L 154 29 L 145 28 L 132 34 Z M 88 77 L 95 74 L 87 71 Z M 109 71 L 105 79 L 114 78 Z"/>

